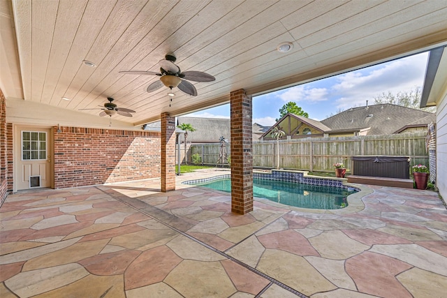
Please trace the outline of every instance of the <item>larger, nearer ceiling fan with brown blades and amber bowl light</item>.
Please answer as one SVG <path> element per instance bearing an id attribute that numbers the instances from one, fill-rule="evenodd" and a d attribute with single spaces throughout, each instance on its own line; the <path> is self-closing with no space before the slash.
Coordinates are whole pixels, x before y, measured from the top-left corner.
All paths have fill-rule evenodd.
<path id="1" fill-rule="evenodd" d="M 173 54 L 166 54 L 165 59 L 159 61 L 160 73 L 145 70 L 126 70 L 119 73 L 126 73 L 130 75 L 158 75 L 160 80 L 153 82 L 147 87 L 147 92 L 151 93 L 160 89 L 161 87 L 168 87 L 173 89 L 178 87 L 181 91 L 191 96 L 197 96 L 197 89 L 188 81 L 194 82 L 212 82 L 216 80 L 210 74 L 201 71 L 185 71 L 182 73 L 180 68 L 174 64 L 176 58 Z"/>

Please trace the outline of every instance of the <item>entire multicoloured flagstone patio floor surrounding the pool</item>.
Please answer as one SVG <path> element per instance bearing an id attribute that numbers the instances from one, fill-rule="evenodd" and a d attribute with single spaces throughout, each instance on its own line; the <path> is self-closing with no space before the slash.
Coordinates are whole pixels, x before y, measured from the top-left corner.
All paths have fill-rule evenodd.
<path id="1" fill-rule="evenodd" d="M 446 297 L 437 193 L 356 186 L 312 210 L 181 184 L 228 170 L 21 191 L 0 208 L 0 297 Z"/>

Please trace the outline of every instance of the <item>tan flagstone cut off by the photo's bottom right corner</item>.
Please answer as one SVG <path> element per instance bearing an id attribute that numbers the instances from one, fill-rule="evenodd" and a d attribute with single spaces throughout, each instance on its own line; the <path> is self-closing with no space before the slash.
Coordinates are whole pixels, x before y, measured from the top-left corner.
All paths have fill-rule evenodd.
<path id="1" fill-rule="evenodd" d="M 445 297 L 447 277 L 419 268 L 402 272 L 397 279 L 413 297 Z"/>

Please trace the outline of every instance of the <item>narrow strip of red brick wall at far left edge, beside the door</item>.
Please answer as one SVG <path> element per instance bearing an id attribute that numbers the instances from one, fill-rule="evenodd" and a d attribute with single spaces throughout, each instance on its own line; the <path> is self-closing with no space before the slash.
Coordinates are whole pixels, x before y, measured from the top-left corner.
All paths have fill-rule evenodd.
<path id="1" fill-rule="evenodd" d="M 0 206 L 13 191 L 13 125 L 6 123 L 6 98 L 0 89 Z"/>

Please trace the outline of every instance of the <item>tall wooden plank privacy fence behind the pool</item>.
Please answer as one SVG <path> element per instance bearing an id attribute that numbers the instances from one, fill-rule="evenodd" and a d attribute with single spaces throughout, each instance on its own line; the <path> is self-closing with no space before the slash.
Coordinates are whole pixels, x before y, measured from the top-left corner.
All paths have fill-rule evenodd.
<path id="1" fill-rule="evenodd" d="M 220 144 L 192 144 L 189 156 L 199 154 L 205 165 L 216 165 Z M 230 156 L 230 144 L 226 146 Z M 366 135 L 356 137 L 307 137 L 279 140 L 279 167 L 310 172 L 332 172 L 334 163 L 344 163 L 351 169 L 351 156 L 409 156 L 410 166 L 428 165 L 425 133 Z M 253 142 L 254 167 L 277 167 L 277 142 Z"/>

